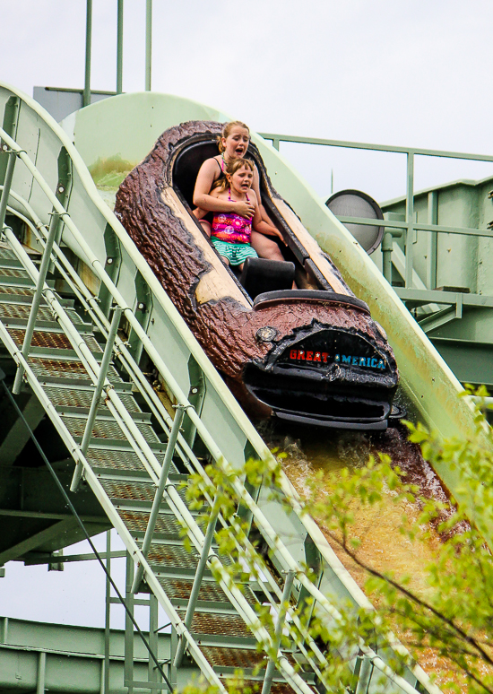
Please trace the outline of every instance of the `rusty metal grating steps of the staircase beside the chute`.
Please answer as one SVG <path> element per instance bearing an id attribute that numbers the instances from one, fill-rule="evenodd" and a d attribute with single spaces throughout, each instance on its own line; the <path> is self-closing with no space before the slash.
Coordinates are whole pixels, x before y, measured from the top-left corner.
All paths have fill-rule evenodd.
<path id="1" fill-rule="evenodd" d="M 0 275 L 3 275 L 5 269 L 10 273 L 13 263 L 12 251 L 0 247 Z M 16 278 L 26 280 L 27 284 L 29 274 L 22 270 L 22 267 L 16 267 L 15 272 Z M 25 284 L 21 287 L 17 283 L 4 283 L 1 296 L 8 297 L 8 301 L 0 301 L 0 320 L 15 347 L 21 349 L 30 316 L 33 289 L 26 288 Z M 103 350 L 92 332 L 92 326 L 82 321 L 70 302 L 66 312 L 74 325 L 82 328 L 84 343 L 96 360 L 100 361 Z M 44 393 L 56 409 L 66 431 L 75 444 L 80 444 L 91 407 L 94 385 L 86 367 L 78 359 L 72 343 L 61 332 L 46 301 L 43 301 L 38 310 L 30 354 L 30 369 L 42 384 Z M 129 383 L 118 375 L 114 365 L 108 369 L 108 379 L 119 391 L 121 402 L 144 440 L 148 442 L 154 454 L 162 458 L 166 452 L 166 445 L 160 441 L 152 428 L 150 413 L 141 410 Z M 123 446 L 124 444 L 126 446 Z M 156 483 L 151 479 L 142 459 L 132 450 L 125 431 L 109 411 L 108 403 L 104 399 L 91 430 L 91 443 L 86 458 L 108 499 L 108 506 L 114 509 L 136 546 L 142 549 L 156 494 Z M 180 474 L 176 465 L 171 462 L 169 480 L 176 486 L 186 485 L 187 475 Z M 178 489 L 177 493 L 185 504 L 186 487 Z M 183 525 L 179 523 L 166 500 L 160 504 L 147 560 L 159 585 L 168 594 L 170 603 L 177 608 L 178 616 L 185 619 L 184 608 L 194 584 L 199 555 L 196 551 L 186 551 L 183 545 Z M 222 557 L 221 560 L 224 566 L 230 564 L 228 557 Z M 148 590 L 145 584 L 142 587 Z M 258 603 L 250 586 L 243 586 L 243 591 L 247 603 Z M 257 641 L 245 620 L 238 615 L 229 596 L 217 585 L 209 569 L 203 573 L 190 632 L 200 644 L 204 659 L 221 680 L 234 675 L 235 670 L 242 668 L 252 685 L 258 686 L 259 682 L 263 681 L 264 655 L 256 650 Z M 231 646 L 231 643 L 234 645 Z M 292 664 L 296 664 L 292 656 L 291 661 Z M 309 672 L 306 673 L 307 678 L 308 675 Z M 313 680 L 313 677 L 310 679 Z M 274 682 L 276 680 L 282 681 L 279 673 Z M 274 690 L 279 689 L 276 688 Z M 282 689 L 288 690 L 291 688 Z"/>

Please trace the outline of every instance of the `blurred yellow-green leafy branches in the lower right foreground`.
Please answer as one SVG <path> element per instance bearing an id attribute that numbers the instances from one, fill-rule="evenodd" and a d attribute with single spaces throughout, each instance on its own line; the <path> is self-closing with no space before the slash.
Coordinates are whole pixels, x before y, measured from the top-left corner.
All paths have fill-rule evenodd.
<path id="1" fill-rule="evenodd" d="M 471 395 L 471 391 L 465 395 Z M 481 389 L 478 395 L 487 394 Z M 348 663 L 354 664 L 354 658 L 362 655 L 362 644 L 377 645 L 379 652 L 384 648 L 391 653 L 388 646 L 394 644 L 394 630 L 409 649 L 406 654 L 397 646 L 387 658 L 395 672 L 402 672 L 404 665 L 413 663 L 413 658 L 431 653 L 442 665 L 443 688 L 493 694 L 493 649 L 489 642 L 493 626 L 493 564 L 489 544 L 485 542 L 485 538 L 492 537 L 493 528 L 493 436 L 480 408 L 476 410 L 475 424 L 471 438 L 447 441 L 420 424 L 408 424 L 410 440 L 419 444 L 425 459 L 435 468 L 448 465 L 457 473 L 457 494 L 468 504 L 453 507 L 452 512 L 443 503 L 420 497 L 418 488 L 406 484 L 404 473 L 386 455 L 370 457 L 367 464 L 356 469 L 343 469 L 330 476 L 320 473 L 307 481 L 303 512 L 316 518 L 333 547 L 343 551 L 350 563 L 365 573 L 365 592 L 376 605 L 373 610 L 366 605 L 339 604 L 333 619 L 320 611 L 311 615 L 311 598 L 298 606 L 284 605 L 289 610 L 291 638 L 310 644 L 308 655 L 330 655 L 324 658 L 324 664 L 319 663 L 318 672 L 328 690 L 353 690 L 355 681 Z M 274 453 L 278 453 L 277 466 L 253 460 L 241 475 L 248 489 L 254 490 L 264 481 L 272 496 L 289 505 L 280 491 L 283 454 Z M 219 514 L 215 540 L 221 558 L 229 557 L 229 585 L 238 586 L 247 579 L 262 584 L 264 576 L 272 571 L 269 547 L 255 523 L 251 523 L 245 503 L 238 507 L 237 474 L 238 471 L 225 473 L 221 466 L 210 465 L 203 475 L 197 473 L 190 481 L 186 494 L 190 505 L 201 509 L 204 527 L 215 523 Z M 326 488 L 329 492 L 322 494 L 321 490 Z M 418 516 L 410 518 L 402 513 L 402 538 L 412 543 L 428 542 L 431 535 L 441 538 L 435 559 L 426 568 L 424 590 L 411 586 L 411 577 L 384 572 L 362 559 L 361 538 L 354 531 L 356 507 L 379 509 L 391 503 L 399 508 L 416 508 L 417 502 Z M 454 499 L 451 503 L 454 505 Z M 213 562 L 212 571 L 219 577 Z M 255 629 L 264 634 L 259 649 L 279 665 L 272 617 L 276 612 L 268 604 L 269 599 L 272 595 L 266 592 L 264 603 L 256 607 Z M 281 635 L 283 643 L 289 643 L 285 635 Z M 241 690 L 240 674 L 229 686 L 232 694 Z M 212 694 L 210 688 L 198 684 L 191 690 L 187 688 L 186 694 L 195 694 L 197 689 Z"/>

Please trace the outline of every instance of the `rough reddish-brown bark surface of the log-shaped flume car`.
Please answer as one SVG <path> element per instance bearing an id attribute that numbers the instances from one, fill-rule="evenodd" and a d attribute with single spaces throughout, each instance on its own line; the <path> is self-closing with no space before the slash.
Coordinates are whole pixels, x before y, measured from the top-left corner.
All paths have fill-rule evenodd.
<path id="1" fill-rule="evenodd" d="M 392 350 L 371 317 L 358 308 L 299 301 L 255 310 L 247 299 L 244 302 L 238 299 L 238 286 L 232 277 L 230 282 L 234 291 L 231 289 L 231 293 L 234 297 L 224 296 L 205 303 L 197 301 L 195 289 L 198 282 L 203 275 L 214 273 L 214 266 L 221 267 L 221 259 L 217 256 L 216 265 L 205 258 L 195 242 L 197 234 L 202 232 L 194 219 L 186 213 L 185 207 L 180 219 L 164 202 L 161 193 L 172 182 L 170 166 L 180 144 L 195 134 L 219 134 L 221 127 L 218 123 L 191 121 L 167 130 L 148 157 L 125 178 L 117 193 L 115 208 L 120 221 L 203 350 L 241 397 L 245 393 L 242 373 L 246 365 L 252 361 L 264 361 L 275 348 L 275 343 L 294 335 L 299 327 L 316 321 L 367 339 L 377 351 L 385 354 L 396 383 L 397 370 Z M 269 186 L 272 188 L 270 182 Z M 272 192 L 275 193 L 273 189 Z M 348 293 L 351 292 L 348 290 Z M 266 325 L 276 328 L 275 343 L 262 343 L 255 339 L 257 330 Z"/>

